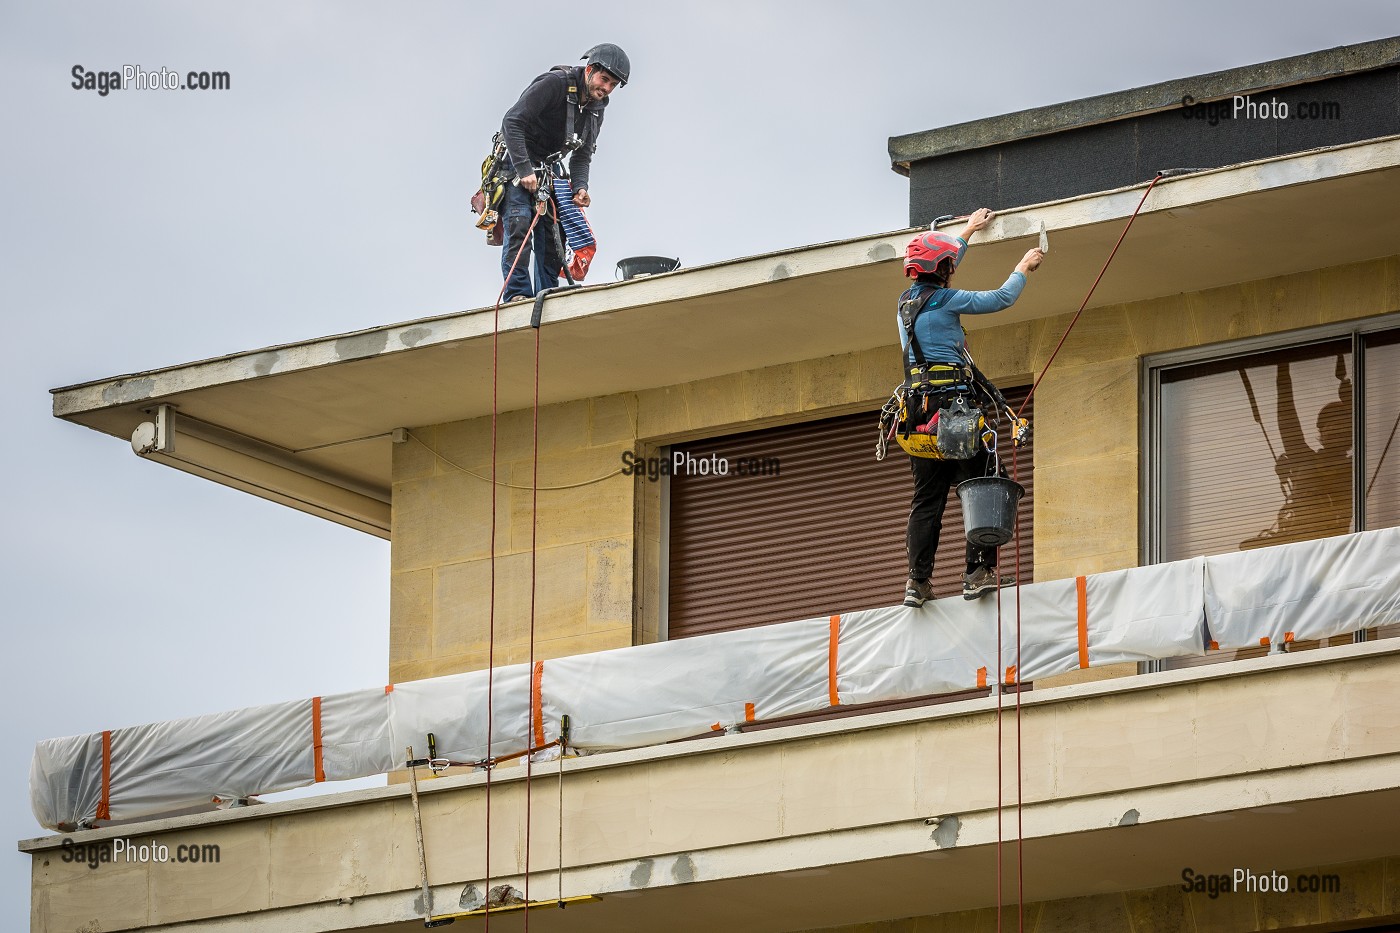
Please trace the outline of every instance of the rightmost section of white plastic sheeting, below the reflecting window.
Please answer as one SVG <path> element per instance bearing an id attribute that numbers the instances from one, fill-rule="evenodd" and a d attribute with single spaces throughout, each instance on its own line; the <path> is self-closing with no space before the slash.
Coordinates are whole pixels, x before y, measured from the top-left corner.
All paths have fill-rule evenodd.
<path id="1" fill-rule="evenodd" d="M 1205 558 L 1205 618 L 1221 650 L 1400 622 L 1400 528 Z"/>

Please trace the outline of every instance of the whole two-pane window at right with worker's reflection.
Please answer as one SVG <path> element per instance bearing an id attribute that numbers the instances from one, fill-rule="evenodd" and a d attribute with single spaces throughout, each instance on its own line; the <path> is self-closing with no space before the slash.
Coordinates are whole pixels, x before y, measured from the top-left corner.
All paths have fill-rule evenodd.
<path id="1" fill-rule="evenodd" d="M 1149 360 L 1145 559 L 1400 524 L 1400 329 L 1387 324 Z"/>

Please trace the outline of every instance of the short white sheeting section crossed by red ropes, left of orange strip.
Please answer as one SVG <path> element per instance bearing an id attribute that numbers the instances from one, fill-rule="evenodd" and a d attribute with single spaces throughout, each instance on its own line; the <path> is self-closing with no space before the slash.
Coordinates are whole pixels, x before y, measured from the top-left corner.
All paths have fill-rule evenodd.
<path id="1" fill-rule="evenodd" d="M 489 671 L 449 674 L 427 681 L 396 684 L 389 693 L 391 758 L 403 765 L 412 745 L 416 758 L 427 758 L 427 734 L 437 738 L 438 758 L 473 763 L 486 758 L 486 696 L 490 688 L 491 756 L 528 748 L 531 684 L 529 664 Z M 370 772 L 377 773 L 377 772 Z"/>

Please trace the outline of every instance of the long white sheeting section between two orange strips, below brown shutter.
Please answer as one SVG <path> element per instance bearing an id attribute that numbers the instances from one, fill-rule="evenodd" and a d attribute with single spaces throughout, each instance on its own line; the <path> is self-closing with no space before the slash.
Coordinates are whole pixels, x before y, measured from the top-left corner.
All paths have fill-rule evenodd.
<path id="1" fill-rule="evenodd" d="M 545 663 L 543 737 L 636 748 L 827 706 L 830 619 L 804 619 Z M 539 738 L 539 735 L 536 735 Z"/>

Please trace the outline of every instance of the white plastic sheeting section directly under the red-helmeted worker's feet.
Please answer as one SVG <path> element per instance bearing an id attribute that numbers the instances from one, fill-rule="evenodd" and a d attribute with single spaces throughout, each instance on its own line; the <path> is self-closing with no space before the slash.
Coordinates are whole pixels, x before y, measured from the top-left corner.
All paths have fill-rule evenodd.
<path id="1" fill-rule="evenodd" d="M 955 693 L 997 679 L 997 607 L 991 600 L 934 600 L 923 608 L 841 616 L 836 689 L 841 703 Z"/>

